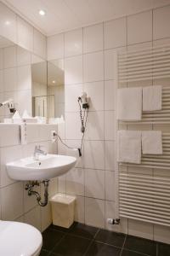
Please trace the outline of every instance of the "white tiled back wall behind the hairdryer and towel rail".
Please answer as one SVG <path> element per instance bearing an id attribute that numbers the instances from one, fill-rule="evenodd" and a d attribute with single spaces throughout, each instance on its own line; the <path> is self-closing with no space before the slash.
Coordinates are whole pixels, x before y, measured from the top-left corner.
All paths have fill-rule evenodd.
<path id="1" fill-rule="evenodd" d="M 169 23 L 167 6 L 48 38 L 48 60 L 65 61 L 65 125 L 59 132 L 66 143 L 81 143 L 77 97 L 82 90 L 91 101 L 82 160 L 59 177 L 59 192 L 77 195 L 77 221 L 166 242 L 169 228 L 124 218 L 112 227 L 106 219 L 116 218 L 114 55 L 116 50 L 169 42 Z M 59 153 L 72 154 L 60 143 Z"/>

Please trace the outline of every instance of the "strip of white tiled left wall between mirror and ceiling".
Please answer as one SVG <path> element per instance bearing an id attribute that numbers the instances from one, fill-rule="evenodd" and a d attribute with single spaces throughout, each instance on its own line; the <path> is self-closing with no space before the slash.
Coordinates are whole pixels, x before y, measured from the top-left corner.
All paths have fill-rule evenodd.
<path id="1" fill-rule="evenodd" d="M 0 36 L 46 58 L 46 37 L 0 2 Z"/>

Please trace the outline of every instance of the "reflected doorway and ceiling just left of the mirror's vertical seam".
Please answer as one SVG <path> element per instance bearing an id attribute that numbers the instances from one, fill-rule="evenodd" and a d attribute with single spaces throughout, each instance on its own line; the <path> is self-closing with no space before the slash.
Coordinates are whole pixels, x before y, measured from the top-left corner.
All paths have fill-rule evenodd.
<path id="1" fill-rule="evenodd" d="M 32 116 L 48 117 L 47 61 L 31 65 Z"/>

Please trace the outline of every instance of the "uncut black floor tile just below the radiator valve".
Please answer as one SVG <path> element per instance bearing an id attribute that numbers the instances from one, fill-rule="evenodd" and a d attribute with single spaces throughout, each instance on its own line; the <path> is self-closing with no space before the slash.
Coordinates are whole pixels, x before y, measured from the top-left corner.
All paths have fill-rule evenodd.
<path id="1" fill-rule="evenodd" d="M 125 237 L 126 236 L 122 233 L 111 232 L 108 230 L 99 230 L 99 233 L 95 237 L 95 240 L 102 241 L 116 247 L 122 247 L 125 241 Z"/>

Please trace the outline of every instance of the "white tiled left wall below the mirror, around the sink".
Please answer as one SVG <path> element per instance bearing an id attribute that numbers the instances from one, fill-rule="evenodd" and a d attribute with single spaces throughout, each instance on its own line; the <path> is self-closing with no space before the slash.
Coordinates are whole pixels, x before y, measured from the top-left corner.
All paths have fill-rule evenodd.
<path id="1" fill-rule="evenodd" d="M 50 141 L 50 131 L 56 125 L 28 125 L 28 144 L 20 145 L 20 125 L 0 124 L 0 219 L 17 220 L 44 230 L 51 224 L 50 206 L 39 207 L 35 196 L 28 196 L 23 182 L 8 177 L 6 163 L 31 156 L 35 145 L 41 144 L 48 153 L 56 153 Z M 33 136 L 35 135 L 36 136 Z M 50 181 L 49 196 L 57 192 L 56 178 Z M 43 187 L 37 188 L 43 195 Z"/>

